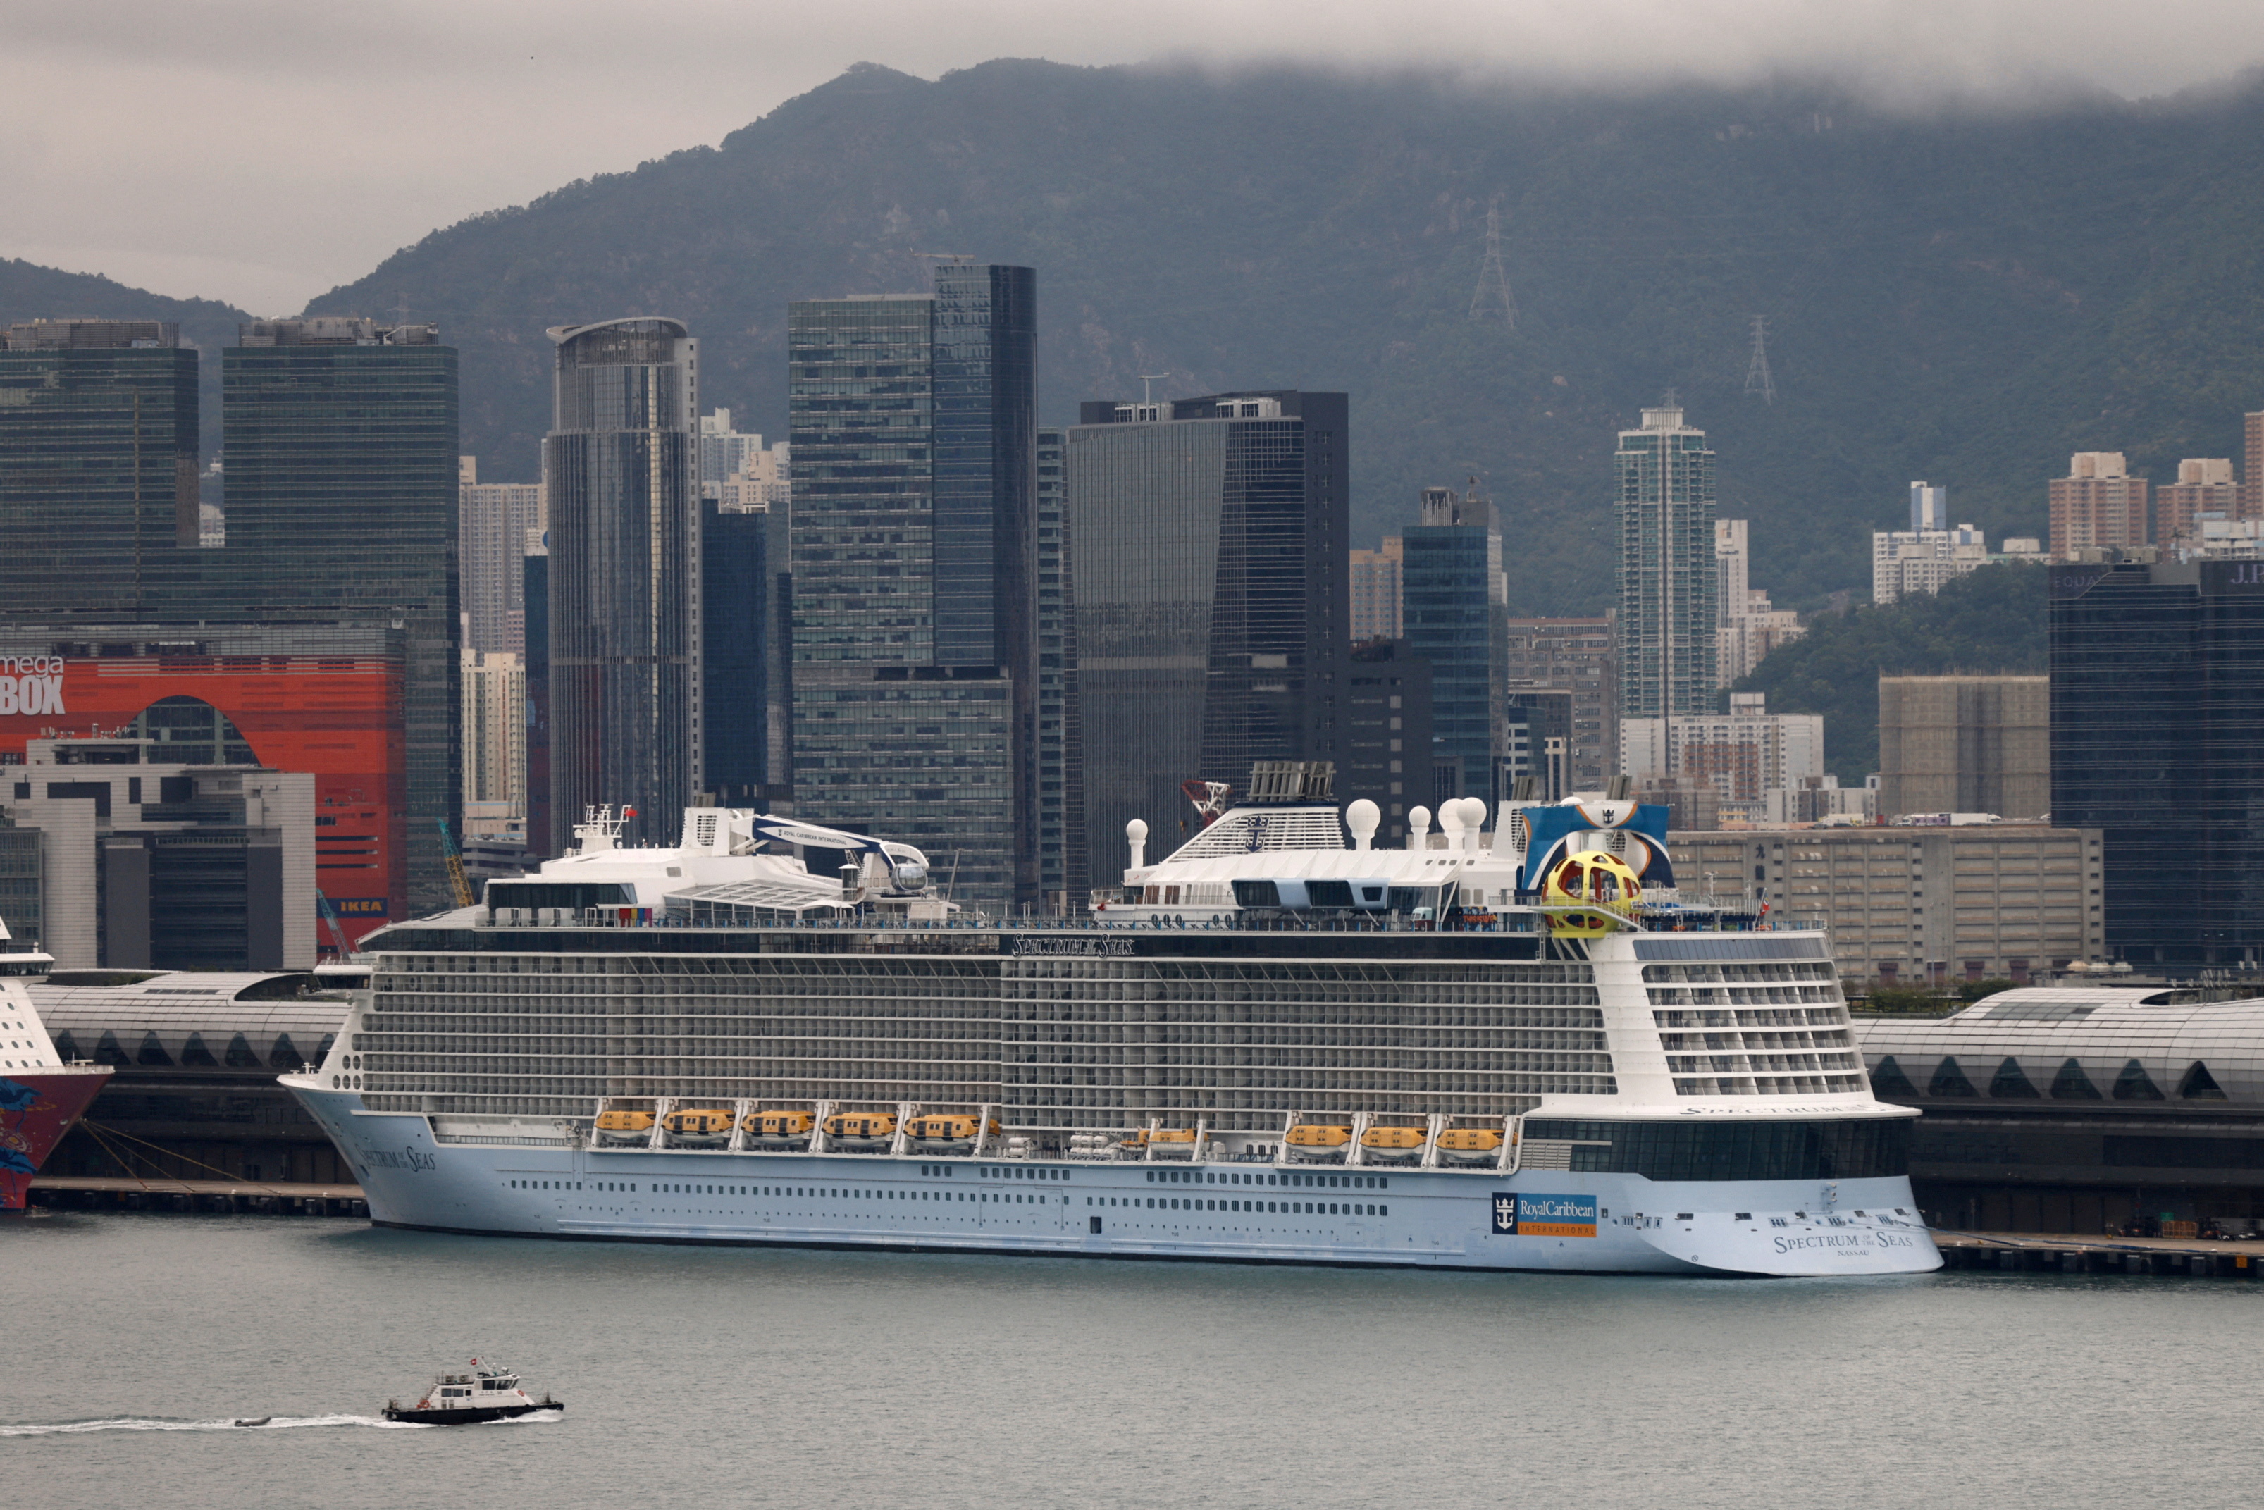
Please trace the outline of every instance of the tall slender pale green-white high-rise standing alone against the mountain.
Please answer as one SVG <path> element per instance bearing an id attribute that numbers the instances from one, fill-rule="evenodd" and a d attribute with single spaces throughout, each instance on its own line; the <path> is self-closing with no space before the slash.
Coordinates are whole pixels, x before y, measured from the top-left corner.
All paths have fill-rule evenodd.
<path id="1" fill-rule="evenodd" d="M 1716 675 L 1714 453 L 1682 410 L 1644 410 L 1619 432 L 1619 715 L 1721 706 Z M 1639 774 L 1639 772 L 1632 772 Z"/>

